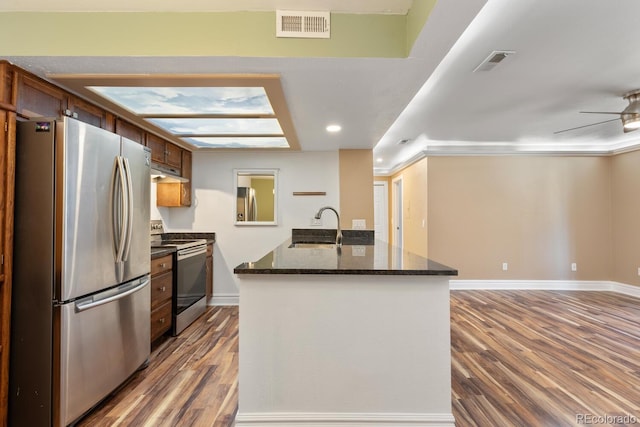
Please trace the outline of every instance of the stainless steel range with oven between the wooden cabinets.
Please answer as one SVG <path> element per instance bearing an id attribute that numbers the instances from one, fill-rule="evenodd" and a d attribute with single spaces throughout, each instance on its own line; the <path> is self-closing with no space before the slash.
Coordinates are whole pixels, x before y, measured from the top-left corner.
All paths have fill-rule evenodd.
<path id="1" fill-rule="evenodd" d="M 207 309 L 204 239 L 173 239 L 161 220 L 151 221 L 151 248 L 175 248 L 173 268 L 172 330 L 175 336 Z"/>

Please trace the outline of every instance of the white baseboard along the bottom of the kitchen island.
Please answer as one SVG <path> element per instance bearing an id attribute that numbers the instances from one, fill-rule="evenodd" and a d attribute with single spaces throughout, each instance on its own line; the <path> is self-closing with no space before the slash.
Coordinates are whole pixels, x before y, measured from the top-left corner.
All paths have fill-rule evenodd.
<path id="1" fill-rule="evenodd" d="M 411 413 L 238 413 L 235 427 L 455 427 L 453 414 Z"/>

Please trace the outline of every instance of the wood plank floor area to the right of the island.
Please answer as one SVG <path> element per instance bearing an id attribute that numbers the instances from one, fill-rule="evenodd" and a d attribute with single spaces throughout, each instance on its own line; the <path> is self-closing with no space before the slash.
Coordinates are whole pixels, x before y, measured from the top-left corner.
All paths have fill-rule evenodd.
<path id="1" fill-rule="evenodd" d="M 640 299 L 552 291 L 451 299 L 458 426 L 587 424 L 582 415 L 640 423 Z"/>

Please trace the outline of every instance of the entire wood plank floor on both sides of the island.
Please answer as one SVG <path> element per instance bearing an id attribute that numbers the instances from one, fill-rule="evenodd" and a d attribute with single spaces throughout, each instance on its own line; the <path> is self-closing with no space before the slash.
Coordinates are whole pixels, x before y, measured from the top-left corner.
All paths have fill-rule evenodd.
<path id="1" fill-rule="evenodd" d="M 453 291 L 451 320 L 457 426 L 640 424 L 639 299 Z M 210 308 L 79 425 L 232 426 L 237 358 L 238 308 Z"/>

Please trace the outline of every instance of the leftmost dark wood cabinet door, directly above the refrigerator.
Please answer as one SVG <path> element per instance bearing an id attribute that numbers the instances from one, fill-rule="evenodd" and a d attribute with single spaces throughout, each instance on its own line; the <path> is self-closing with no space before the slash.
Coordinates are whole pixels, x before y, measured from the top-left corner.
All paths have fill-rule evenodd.
<path id="1" fill-rule="evenodd" d="M 23 117 L 62 117 L 67 95 L 62 89 L 24 74 L 18 77 L 18 114 Z"/>

